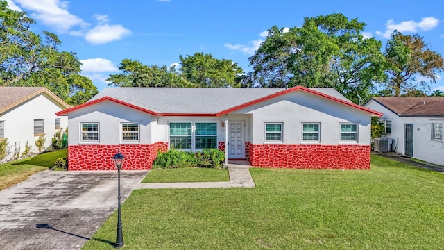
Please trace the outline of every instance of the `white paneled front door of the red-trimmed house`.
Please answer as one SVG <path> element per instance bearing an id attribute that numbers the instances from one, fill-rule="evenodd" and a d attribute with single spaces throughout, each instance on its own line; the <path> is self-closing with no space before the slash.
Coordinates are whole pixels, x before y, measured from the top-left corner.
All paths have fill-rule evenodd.
<path id="1" fill-rule="evenodd" d="M 244 122 L 228 122 L 228 158 L 245 158 Z"/>

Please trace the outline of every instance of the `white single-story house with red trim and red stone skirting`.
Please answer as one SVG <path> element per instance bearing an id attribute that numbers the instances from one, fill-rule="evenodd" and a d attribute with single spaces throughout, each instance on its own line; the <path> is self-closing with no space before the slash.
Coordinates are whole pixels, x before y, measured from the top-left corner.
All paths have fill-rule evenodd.
<path id="1" fill-rule="evenodd" d="M 253 167 L 369 169 L 370 117 L 332 88 L 105 88 L 69 119 L 69 169 L 150 169 L 157 151 L 217 148 Z"/>

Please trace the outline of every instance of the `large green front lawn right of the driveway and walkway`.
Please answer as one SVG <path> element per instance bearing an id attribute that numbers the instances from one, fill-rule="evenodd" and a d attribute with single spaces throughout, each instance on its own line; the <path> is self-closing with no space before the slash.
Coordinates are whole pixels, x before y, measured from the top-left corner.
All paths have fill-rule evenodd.
<path id="1" fill-rule="evenodd" d="M 444 175 L 372 156 L 371 170 L 250 169 L 256 188 L 135 190 L 126 249 L 442 249 Z M 112 249 L 114 213 L 83 249 Z"/>

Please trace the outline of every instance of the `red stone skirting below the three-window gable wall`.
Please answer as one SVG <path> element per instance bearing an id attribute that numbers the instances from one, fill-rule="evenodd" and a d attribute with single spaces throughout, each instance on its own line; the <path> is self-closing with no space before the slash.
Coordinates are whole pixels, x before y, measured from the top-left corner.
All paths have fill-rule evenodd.
<path id="1" fill-rule="evenodd" d="M 370 169 L 370 145 L 253 145 L 245 142 L 253 167 Z"/>

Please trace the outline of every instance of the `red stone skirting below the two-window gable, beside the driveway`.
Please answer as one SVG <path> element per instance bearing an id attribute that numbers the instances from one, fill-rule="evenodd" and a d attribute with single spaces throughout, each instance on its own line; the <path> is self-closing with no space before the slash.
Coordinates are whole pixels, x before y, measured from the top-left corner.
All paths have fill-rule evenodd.
<path id="1" fill-rule="evenodd" d="M 168 142 L 150 145 L 73 145 L 68 146 L 69 170 L 114 170 L 112 156 L 120 149 L 125 156 L 123 170 L 151 169 L 157 151 L 167 151 Z"/>

